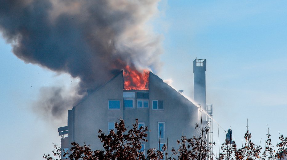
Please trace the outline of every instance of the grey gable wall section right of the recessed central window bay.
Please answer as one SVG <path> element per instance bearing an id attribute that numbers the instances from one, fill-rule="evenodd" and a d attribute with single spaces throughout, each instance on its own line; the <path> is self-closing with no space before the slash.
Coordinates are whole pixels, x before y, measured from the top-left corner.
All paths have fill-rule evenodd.
<path id="1" fill-rule="evenodd" d="M 152 73 L 150 74 L 149 89 L 151 103 L 153 100 L 164 100 L 164 110 L 152 110 L 151 108 L 150 147 L 158 148 L 157 122 L 165 122 L 165 135 L 160 142 L 167 142 L 168 138 L 168 147 L 177 148 L 177 140 L 182 135 L 191 138 L 195 133 L 198 107 Z"/>

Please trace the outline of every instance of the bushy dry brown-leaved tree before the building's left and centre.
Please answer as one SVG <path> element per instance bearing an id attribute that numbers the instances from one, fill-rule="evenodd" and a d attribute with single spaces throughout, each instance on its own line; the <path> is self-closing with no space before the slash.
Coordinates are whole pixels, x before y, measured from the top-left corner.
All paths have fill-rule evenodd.
<path id="1" fill-rule="evenodd" d="M 119 123 L 115 123 L 115 130 L 111 130 L 109 134 L 104 134 L 99 130 L 99 139 L 103 143 L 103 150 L 92 151 L 90 145 L 84 144 L 80 146 L 76 142 L 72 142 L 71 154 L 64 152 L 57 145 L 54 145 L 54 156 L 61 160 L 61 153 L 63 156 L 68 156 L 71 160 L 156 160 L 163 159 L 163 150 L 148 149 L 147 157 L 141 151 L 141 144 L 147 142 L 146 137 L 148 127 L 140 127 L 138 129 L 138 119 L 135 119 L 135 124 L 132 129 L 127 131 L 123 119 Z M 58 160 L 51 157 L 50 154 L 43 154 L 46 160 Z"/>

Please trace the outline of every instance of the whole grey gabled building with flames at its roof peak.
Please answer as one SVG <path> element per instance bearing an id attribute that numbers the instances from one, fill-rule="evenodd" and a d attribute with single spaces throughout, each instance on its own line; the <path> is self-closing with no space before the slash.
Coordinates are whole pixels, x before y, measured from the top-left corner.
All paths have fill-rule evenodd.
<path id="1" fill-rule="evenodd" d="M 205 75 L 205 70 L 201 74 Z M 61 148 L 68 150 L 73 141 L 91 144 L 93 150 L 103 148 L 98 130 L 109 133 L 120 118 L 126 126 L 138 118 L 140 126 L 151 130 L 148 142 L 142 145 L 145 154 L 148 148 L 166 143 L 167 138 L 168 147 L 177 148 L 182 135 L 195 134 L 194 127 L 199 121 L 198 105 L 181 93 L 150 71 L 141 74 L 127 67 L 68 111 L 68 126 L 58 128 Z"/>

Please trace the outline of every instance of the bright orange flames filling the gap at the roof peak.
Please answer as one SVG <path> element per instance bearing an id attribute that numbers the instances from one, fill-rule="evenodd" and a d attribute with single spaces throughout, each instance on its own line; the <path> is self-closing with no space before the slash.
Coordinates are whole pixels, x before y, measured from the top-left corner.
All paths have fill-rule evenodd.
<path id="1" fill-rule="evenodd" d="M 136 69 L 126 66 L 123 71 L 124 90 L 148 90 L 149 71 L 140 73 Z"/>

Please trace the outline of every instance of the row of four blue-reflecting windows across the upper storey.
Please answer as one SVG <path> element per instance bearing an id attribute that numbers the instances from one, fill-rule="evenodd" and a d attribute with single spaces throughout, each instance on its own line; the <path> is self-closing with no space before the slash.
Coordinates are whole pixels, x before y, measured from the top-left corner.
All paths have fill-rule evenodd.
<path id="1" fill-rule="evenodd" d="M 144 93 L 144 92 L 143 92 Z M 134 99 L 125 98 L 123 100 L 123 106 L 125 108 L 135 108 Z M 137 100 L 137 108 L 149 108 L 148 100 Z M 109 110 L 119 110 L 120 109 L 120 100 L 109 100 Z M 153 110 L 164 110 L 164 100 L 154 100 L 152 101 Z"/>

